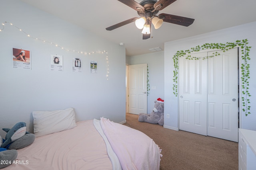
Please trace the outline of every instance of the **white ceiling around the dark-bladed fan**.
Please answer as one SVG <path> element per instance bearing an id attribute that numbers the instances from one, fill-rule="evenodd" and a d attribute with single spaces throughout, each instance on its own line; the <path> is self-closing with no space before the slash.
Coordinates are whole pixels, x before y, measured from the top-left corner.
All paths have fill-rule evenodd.
<path id="1" fill-rule="evenodd" d="M 124 43 L 126 55 L 152 53 L 164 42 L 256 21 L 256 0 L 177 0 L 160 13 L 194 18 L 188 27 L 164 22 L 152 29 L 153 38 L 142 40 L 141 30 L 129 23 L 112 31 L 105 28 L 139 17 L 137 11 L 118 0 L 21 0 L 114 43 Z M 135 0 L 140 3 L 142 0 Z"/>

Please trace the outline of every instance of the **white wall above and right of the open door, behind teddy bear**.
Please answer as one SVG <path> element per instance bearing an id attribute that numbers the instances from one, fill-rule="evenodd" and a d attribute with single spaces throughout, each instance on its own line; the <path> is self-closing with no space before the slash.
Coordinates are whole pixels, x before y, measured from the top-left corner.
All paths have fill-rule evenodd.
<path id="1" fill-rule="evenodd" d="M 164 51 L 148 53 L 130 57 L 130 64 L 148 64 L 148 80 L 150 90 L 148 94 L 148 113 L 154 108 L 154 101 L 164 100 Z M 155 86 L 156 89 L 152 89 Z"/>

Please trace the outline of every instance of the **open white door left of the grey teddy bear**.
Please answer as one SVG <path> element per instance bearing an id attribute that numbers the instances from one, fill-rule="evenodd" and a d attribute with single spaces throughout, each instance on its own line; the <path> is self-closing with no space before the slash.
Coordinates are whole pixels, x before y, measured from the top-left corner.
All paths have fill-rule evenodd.
<path id="1" fill-rule="evenodd" d="M 128 66 L 128 113 L 147 113 L 147 64 Z"/>

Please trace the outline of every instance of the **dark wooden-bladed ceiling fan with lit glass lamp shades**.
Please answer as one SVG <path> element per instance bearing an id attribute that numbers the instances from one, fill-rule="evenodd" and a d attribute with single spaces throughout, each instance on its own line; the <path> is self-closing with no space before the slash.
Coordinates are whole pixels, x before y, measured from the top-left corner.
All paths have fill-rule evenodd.
<path id="1" fill-rule="evenodd" d="M 150 30 L 151 30 L 151 23 L 153 23 L 155 29 L 158 29 L 161 27 L 163 22 L 169 22 L 174 23 L 182 26 L 188 27 L 194 22 L 194 19 L 192 18 L 186 18 L 182 16 L 175 16 L 171 14 L 159 14 L 158 12 L 164 8 L 166 8 L 168 5 L 172 4 L 176 0 L 143 0 L 138 4 L 134 0 L 118 0 L 127 6 L 130 6 L 134 10 L 138 12 L 138 17 L 131 18 L 129 20 L 122 21 L 120 23 L 117 23 L 115 25 L 112 25 L 110 27 L 107 27 L 106 30 L 111 31 L 113 29 L 116 29 L 118 27 L 121 27 L 123 25 L 126 25 L 128 23 L 134 22 L 136 27 L 139 29 L 142 29 L 143 37 L 142 39 L 148 39 L 150 38 Z"/>

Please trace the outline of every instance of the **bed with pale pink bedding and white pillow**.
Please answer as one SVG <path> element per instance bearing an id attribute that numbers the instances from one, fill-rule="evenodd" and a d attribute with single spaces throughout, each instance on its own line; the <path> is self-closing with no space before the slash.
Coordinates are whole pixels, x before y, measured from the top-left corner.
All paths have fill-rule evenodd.
<path id="1" fill-rule="evenodd" d="M 35 141 L 4 170 L 159 170 L 161 149 L 104 117 L 75 122 L 74 109 L 35 111 Z"/>

